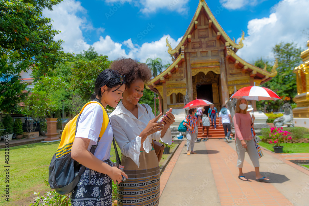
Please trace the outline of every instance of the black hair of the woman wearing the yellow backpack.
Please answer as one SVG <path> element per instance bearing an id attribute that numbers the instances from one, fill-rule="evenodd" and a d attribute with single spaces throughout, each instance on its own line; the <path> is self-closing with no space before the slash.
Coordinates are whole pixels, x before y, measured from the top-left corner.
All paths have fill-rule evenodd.
<path id="1" fill-rule="evenodd" d="M 98 95 L 101 101 L 103 95 L 103 93 L 101 94 L 101 87 L 105 85 L 108 87 L 107 91 L 116 86 L 120 87 L 122 83 L 120 81 L 119 72 L 112 69 L 103 70 L 95 80 L 95 92 L 91 95 L 91 100 L 94 100 L 96 95 Z M 116 90 L 118 90 L 119 87 Z"/>

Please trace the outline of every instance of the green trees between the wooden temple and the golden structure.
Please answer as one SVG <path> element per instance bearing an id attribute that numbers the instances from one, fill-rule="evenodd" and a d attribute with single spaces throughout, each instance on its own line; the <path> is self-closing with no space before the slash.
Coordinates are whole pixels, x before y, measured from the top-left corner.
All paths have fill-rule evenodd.
<path id="1" fill-rule="evenodd" d="M 292 98 L 296 95 L 296 75 L 293 70 L 301 63 L 300 53 L 301 49 L 297 48 L 294 43 L 276 44 L 273 47 L 274 57 L 278 60 L 277 75 L 270 81 L 265 82 L 263 87 L 269 88 L 276 92 L 282 100 L 277 101 L 259 101 L 257 102 L 257 108 L 264 111 L 277 111 L 280 110 L 284 103 L 293 104 Z M 267 65 L 267 70 L 270 71 L 272 65 L 268 61 L 259 59 L 255 62 L 255 65 L 264 68 Z"/>

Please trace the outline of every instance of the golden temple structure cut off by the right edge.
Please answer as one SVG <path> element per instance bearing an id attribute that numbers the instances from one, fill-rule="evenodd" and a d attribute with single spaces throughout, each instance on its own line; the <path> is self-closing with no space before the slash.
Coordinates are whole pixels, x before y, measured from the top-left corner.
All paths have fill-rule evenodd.
<path id="1" fill-rule="evenodd" d="M 300 54 L 303 63 L 295 67 L 293 71 L 296 74 L 297 85 L 297 95 L 293 98 L 297 104 L 297 107 L 293 109 L 293 123 L 297 127 L 309 128 L 309 40 L 307 47 Z"/>

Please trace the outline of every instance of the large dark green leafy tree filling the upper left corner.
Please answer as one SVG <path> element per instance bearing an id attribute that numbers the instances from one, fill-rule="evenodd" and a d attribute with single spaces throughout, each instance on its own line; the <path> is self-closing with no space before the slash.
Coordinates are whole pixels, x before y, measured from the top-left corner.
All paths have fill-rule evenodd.
<path id="1" fill-rule="evenodd" d="M 0 1 L 0 110 L 12 111 L 27 94 L 20 83 L 20 72 L 34 71 L 44 74 L 61 61 L 61 40 L 53 37 L 51 19 L 44 18 L 44 8 L 61 0 Z M 40 76 L 40 75 L 39 75 Z"/>

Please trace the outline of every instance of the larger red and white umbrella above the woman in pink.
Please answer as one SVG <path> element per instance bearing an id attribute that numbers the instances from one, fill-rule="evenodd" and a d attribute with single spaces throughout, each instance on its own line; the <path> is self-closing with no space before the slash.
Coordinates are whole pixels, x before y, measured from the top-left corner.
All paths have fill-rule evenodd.
<path id="1" fill-rule="evenodd" d="M 246 86 L 236 91 L 231 98 L 247 100 L 277 100 L 281 99 L 274 91 L 261 86 Z"/>

